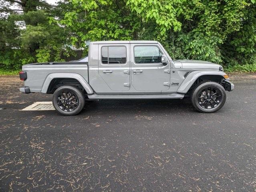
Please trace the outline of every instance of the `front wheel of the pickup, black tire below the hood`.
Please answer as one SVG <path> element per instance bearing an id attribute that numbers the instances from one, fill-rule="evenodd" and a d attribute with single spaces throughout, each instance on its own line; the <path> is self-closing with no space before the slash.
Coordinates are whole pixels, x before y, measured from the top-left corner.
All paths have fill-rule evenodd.
<path id="1" fill-rule="evenodd" d="M 199 112 L 212 113 L 220 110 L 225 104 L 226 92 L 221 84 L 204 81 L 194 87 L 190 99 Z"/>

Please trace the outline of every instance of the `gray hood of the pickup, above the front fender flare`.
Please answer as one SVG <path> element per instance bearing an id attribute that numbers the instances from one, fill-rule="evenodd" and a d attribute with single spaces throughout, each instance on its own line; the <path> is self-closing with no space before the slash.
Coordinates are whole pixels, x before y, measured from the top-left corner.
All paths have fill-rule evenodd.
<path id="1" fill-rule="evenodd" d="M 200 60 L 174 60 L 181 62 L 183 69 L 220 69 L 221 65 Z"/>

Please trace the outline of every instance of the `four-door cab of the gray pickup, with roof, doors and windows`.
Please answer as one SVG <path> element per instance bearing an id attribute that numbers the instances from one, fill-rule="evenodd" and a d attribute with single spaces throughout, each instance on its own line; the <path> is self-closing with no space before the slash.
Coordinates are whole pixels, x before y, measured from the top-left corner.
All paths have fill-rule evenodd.
<path id="1" fill-rule="evenodd" d="M 91 42 L 89 81 L 97 94 L 166 94 L 177 91 L 171 85 L 171 69 L 181 68 L 157 41 Z M 97 73 L 95 73 L 97 72 Z M 181 79 L 173 75 L 174 83 Z"/>

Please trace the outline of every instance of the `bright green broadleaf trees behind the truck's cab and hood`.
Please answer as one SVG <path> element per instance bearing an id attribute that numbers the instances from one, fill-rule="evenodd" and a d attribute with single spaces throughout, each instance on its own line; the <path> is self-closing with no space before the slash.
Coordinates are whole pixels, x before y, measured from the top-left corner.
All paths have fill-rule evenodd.
<path id="1" fill-rule="evenodd" d="M 235 52 L 255 54 L 253 0 L 70 2 L 70 11 L 56 22 L 77 46 L 85 46 L 86 40 L 159 40 L 173 56 L 174 41 L 175 58 L 218 63 L 226 62 L 227 45 L 235 45 Z"/>

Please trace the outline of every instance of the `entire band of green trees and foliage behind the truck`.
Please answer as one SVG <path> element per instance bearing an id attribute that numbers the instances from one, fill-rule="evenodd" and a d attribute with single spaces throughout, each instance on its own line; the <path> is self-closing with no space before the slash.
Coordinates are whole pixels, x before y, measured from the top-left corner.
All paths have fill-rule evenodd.
<path id="1" fill-rule="evenodd" d="M 158 40 L 175 59 L 256 64 L 254 0 L 69 0 L 56 7 L 18 1 L 23 12 L 2 17 L 0 42 L 2 50 L 28 49 L 23 63 L 60 60 L 61 53 L 72 53 L 71 45 L 87 50 L 86 41 Z"/>

